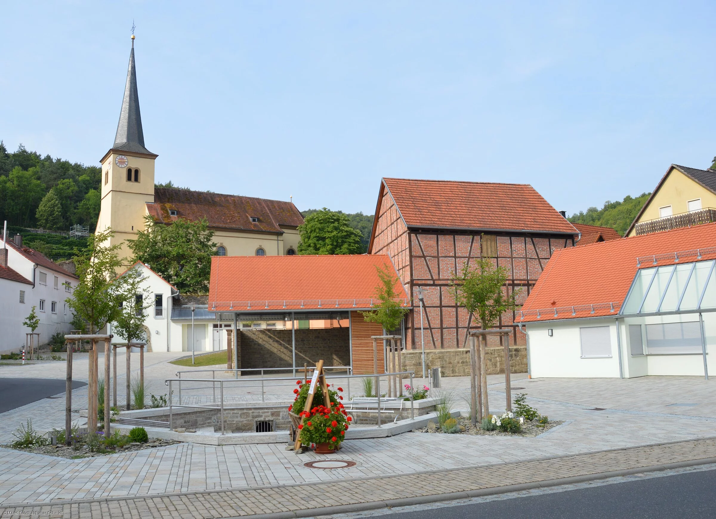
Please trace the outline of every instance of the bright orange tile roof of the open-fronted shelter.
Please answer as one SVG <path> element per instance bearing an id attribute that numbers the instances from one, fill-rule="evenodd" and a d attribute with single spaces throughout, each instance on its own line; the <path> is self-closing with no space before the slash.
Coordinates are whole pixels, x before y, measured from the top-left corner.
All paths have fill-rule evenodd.
<path id="1" fill-rule="evenodd" d="M 397 278 L 390 258 L 382 254 L 213 256 L 209 310 L 366 309 L 380 283 L 376 267 L 382 266 Z M 395 289 L 400 301 L 410 305 L 400 281 Z"/>

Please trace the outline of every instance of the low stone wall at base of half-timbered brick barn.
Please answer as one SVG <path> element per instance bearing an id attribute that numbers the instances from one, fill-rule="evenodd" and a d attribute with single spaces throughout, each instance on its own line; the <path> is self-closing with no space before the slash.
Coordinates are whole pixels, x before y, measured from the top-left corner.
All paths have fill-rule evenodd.
<path id="1" fill-rule="evenodd" d="M 402 352 L 404 371 L 414 371 L 417 377 L 422 375 L 421 352 L 407 350 Z M 488 375 L 505 373 L 505 354 L 503 348 L 488 348 L 485 358 Z M 470 349 L 430 349 L 425 350 L 425 369 L 440 368 L 441 377 L 468 377 L 470 375 Z M 510 372 L 527 372 L 527 347 L 510 346 Z"/>

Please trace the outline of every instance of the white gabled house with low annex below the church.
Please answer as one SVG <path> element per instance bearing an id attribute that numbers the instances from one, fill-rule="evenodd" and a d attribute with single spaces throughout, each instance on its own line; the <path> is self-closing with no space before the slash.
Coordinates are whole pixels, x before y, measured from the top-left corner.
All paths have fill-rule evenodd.
<path id="1" fill-rule="evenodd" d="M 206 296 L 180 296 L 174 286 L 141 261 L 130 268 L 141 271 L 145 291 L 153 301 L 145 311 L 147 351 L 192 351 L 192 343 L 196 352 L 226 349 L 226 329 L 233 327 L 233 321 L 221 322 L 217 314 L 209 312 Z M 112 324 L 109 329 L 112 333 Z"/>

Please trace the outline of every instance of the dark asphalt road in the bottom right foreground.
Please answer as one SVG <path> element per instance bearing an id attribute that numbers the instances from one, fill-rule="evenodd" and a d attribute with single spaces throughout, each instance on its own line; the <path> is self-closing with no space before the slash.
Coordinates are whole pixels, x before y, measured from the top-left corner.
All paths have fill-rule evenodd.
<path id="1" fill-rule="evenodd" d="M 487 503 L 445 506 L 391 519 L 574 519 L 716 517 L 716 470 L 612 483 Z"/>

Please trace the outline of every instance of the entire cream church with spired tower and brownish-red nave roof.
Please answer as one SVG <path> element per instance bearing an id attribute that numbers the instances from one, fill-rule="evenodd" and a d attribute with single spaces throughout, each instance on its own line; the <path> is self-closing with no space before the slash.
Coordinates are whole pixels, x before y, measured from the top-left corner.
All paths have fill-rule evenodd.
<path id="1" fill-rule="evenodd" d="M 132 37 L 133 38 L 133 37 Z M 178 218 L 206 218 L 214 231 L 219 256 L 283 256 L 296 254 L 298 227 L 304 222 L 291 202 L 221 195 L 174 188 L 155 188 L 158 157 L 145 147 L 134 40 L 115 143 L 102 163 L 102 205 L 97 231 L 111 228 L 110 243 L 122 245 L 120 256 L 132 253 L 126 240 L 144 230 L 145 215 L 170 224 Z"/>

